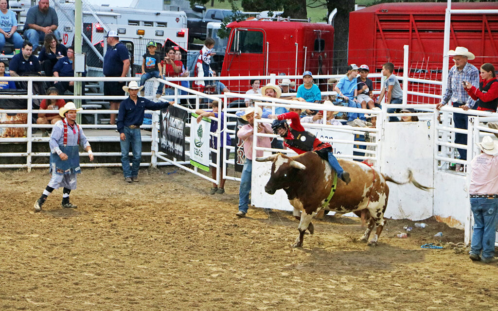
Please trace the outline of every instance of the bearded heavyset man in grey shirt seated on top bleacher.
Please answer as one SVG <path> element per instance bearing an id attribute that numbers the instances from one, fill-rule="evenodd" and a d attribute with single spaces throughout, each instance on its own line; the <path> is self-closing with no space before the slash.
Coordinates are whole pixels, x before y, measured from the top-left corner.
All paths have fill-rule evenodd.
<path id="1" fill-rule="evenodd" d="M 53 7 L 48 6 L 48 0 L 40 0 L 38 5 L 31 6 L 26 13 L 24 22 L 24 38 L 31 42 L 33 50 L 38 47 L 38 42 L 43 41 L 45 35 L 53 33 L 59 41 L 61 34 L 57 27 L 59 19 Z"/>

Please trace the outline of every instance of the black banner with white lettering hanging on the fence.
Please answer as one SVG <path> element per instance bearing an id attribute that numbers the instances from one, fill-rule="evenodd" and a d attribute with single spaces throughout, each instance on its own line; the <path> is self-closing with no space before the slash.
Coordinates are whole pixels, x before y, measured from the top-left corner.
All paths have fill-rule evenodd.
<path id="1" fill-rule="evenodd" d="M 159 151 L 185 161 L 185 122 L 188 112 L 169 106 L 162 109 L 159 124 Z"/>

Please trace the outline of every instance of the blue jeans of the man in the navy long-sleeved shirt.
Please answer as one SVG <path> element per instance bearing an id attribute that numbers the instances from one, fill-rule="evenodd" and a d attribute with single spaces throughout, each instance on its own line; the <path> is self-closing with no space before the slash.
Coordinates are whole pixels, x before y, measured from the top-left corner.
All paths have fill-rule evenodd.
<path id="1" fill-rule="evenodd" d="M 126 177 L 138 176 L 138 169 L 140 168 L 140 160 L 142 158 L 142 137 L 139 128 L 124 127 L 123 133 L 125 140 L 120 140 L 121 145 L 121 164 L 123 164 L 123 175 Z M 133 160 L 131 169 L 129 168 L 129 145 L 131 144 L 131 152 L 133 153 Z"/>

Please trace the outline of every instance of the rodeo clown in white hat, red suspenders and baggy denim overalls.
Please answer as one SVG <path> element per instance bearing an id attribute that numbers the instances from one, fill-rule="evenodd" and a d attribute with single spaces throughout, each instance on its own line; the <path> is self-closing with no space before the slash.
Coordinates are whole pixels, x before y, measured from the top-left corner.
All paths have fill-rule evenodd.
<path id="1" fill-rule="evenodd" d="M 43 191 L 40 199 L 34 203 L 34 210 L 40 211 L 41 206 L 54 189 L 64 187 L 62 195 L 62 207 L 76 208 L 69 203 L 71 190 L 76 189 L 76 174 L 81 173 L 79 147 L 88 152 L 90 161 L 93 161 L 92 148 L 83 129 L 76 124 L 76 112 L 82 108 L 76 108 L 74 103 L 69 102 L 60 108 L 59 114 L 64 119 L 57 121 L 50 135 L 50 172 L 52 178 L 47 188 Z"/>

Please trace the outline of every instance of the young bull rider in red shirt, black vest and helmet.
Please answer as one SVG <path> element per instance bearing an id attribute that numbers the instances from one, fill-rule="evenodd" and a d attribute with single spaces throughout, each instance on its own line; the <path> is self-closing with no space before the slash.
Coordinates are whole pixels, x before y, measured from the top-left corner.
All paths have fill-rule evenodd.
<path id="1" fill-rule="evenodd" d="M 271 124 L 273 132 L 283 137 L 284 145 L 298 154 L 315 151 L 322 159 L 329 162 L 332 169 L 337 172 L 337 177 L 349 184 L 351 181 L 349 173 L 345 172 L 337 161 L 332 153 L 332 146 L 329 143 L 321 142 L 315 135 L 304 129 L 299 119 L 301 109 L 290 108 L 289 110 L 290 112 L 277 115 L 277 119 L 273 120 Z M 291 121 L 290 128 L 287 125 L 287 119 Z"/>

